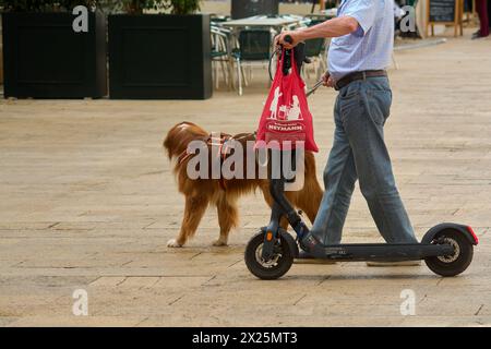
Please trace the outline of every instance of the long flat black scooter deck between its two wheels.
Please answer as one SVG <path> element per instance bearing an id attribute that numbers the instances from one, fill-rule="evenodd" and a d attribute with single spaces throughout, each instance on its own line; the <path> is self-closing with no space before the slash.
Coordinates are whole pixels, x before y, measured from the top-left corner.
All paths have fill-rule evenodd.
<path id="1" fill-rule="evenodd" d="M 349 243 L 316 246 L 310 254 L 315 260 L 331 260 L 339 262 L 402 262 L 424 260 L 431 256 L 444 256 L 453 253 L 454 249 L 448 244 Z"/>

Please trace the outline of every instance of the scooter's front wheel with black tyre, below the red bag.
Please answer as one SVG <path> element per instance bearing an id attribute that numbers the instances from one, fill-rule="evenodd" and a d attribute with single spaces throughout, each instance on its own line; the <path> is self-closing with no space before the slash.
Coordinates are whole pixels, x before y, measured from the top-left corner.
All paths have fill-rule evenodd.
<path id="1" fill-rule="evenodd" d="M 256 233 L 246 248 L 246 265 L 256 277 L 274 280 L 284 276 L 294 264 L 294 252 L 288 242 L 279 237 L 275 241 L 274 254 L 268 261 L 262 257 L 265 232 Z"/>

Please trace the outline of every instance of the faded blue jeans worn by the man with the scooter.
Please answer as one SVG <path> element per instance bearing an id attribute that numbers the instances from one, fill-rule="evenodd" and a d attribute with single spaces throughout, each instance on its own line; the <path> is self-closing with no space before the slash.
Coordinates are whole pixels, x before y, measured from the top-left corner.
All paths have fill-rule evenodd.
<path id="1" fill-rule="evenodd" d="M 417 242 L 384 142 L 391 104 L 391 86 L 384 76 L 355 81 L 339 91 L 334 144 L 324 170 L 325 192 L 312 227 L 312 234 L 324 244 L 340 243 L 357 179 L 385 241 Z"/>

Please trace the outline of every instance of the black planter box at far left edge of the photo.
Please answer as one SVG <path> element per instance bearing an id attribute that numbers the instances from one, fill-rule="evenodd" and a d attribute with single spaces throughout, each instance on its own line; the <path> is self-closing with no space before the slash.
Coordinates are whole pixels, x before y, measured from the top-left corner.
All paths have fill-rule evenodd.
<path id="1" fill-rule="evenodd" d="M 99 98 L 107 95 L 106 17 L 88 13 L 75 33 L 70 13 L 4 13 L 4 96 Z"/>

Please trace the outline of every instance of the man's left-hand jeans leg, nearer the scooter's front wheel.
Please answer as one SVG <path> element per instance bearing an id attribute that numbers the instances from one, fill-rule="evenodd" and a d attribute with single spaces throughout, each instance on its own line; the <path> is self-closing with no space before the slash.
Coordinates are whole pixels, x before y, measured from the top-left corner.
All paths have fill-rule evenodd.
<path id="1" fill-rule="evenodd" d="M 325 192 L 312 227 L 312 234 L 324 244 L 340 242 L 357 180 L 354 155 L 343 127 L 338 101 L 334 108 L 334 144 L 324 169 Z"/>

